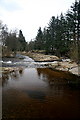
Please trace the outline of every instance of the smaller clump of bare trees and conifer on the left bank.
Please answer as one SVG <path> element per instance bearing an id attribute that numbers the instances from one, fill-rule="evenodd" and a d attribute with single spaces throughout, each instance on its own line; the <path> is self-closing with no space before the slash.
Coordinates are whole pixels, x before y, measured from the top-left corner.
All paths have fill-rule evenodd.
<path id="1" fill-rule="evenodd" d="M 1 28 L 1 44 L 3 47 L 7 47 L 9 51 L 25 51 L 26 50 L 26 40 L 23 36 L 21 30 L 19 33 L 17 31 L 8 32 L 8 28 L 6 25 L 2 25 L 0 22 Z"/>

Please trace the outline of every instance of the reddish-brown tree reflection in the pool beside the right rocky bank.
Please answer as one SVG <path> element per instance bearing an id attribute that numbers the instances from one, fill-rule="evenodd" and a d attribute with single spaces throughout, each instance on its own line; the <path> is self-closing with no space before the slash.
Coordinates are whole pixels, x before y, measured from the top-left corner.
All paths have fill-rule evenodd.
<path id="1" fill-rule="evenodd" d="M 68 72 L 62 72 L 62 71 L 53 71 L 48 68 L 37 68 L 37 73 L 39 76 L 39 79 L 42 79 L 43 81 L 47 82 L 50 87 L 52 86 L 65 86 L 71 82 L 78 82 L 80 77 L 73 75 Z"/>

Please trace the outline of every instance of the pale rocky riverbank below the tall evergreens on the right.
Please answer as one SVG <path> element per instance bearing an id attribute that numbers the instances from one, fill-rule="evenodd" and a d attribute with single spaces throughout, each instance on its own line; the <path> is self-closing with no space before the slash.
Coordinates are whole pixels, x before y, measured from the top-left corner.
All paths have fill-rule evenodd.
<path id="1" fill-rule="evenodd" d="M 52 69 L 60 70 L 60 71 L 68 71 L 72 74 L 79 74 L 79 66 L 76 62 L 71 59 L 59 58 L 54 55 L 45 55 L 42 53 L 35 52 L 23 52 L 22 54 L 31 57 L 36 62 L 52 62 L 47 66 Z"/>

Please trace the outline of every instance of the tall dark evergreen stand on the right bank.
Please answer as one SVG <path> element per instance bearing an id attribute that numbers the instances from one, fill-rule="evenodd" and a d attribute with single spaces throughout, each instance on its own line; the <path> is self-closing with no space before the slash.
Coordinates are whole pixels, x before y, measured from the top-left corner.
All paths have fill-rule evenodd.
<path id="1" fill-rule="evenodd" d="M 48 27 L 41 27 L 33 42 L 34 49 L 46 54 L 80 58 L 80 1 L 75 1 L 65 15 L 52 16 Z M 75 55 L 74 55 L 75 54 Z"/>

